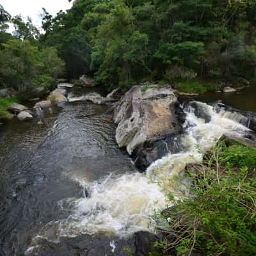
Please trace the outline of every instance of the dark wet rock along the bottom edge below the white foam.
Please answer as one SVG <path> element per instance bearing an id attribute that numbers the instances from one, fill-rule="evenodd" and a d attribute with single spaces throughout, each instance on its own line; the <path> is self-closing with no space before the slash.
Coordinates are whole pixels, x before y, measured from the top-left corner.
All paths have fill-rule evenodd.
<path id="1" fill-rule="evenodd" d="M 41 240 L 40 246 L 31 249 L 26 255 L 147 256 L 155 250 L 157 236 L 141 231 L 125 239 L 99 234 L 61 237 L 59 243 Z"/>

